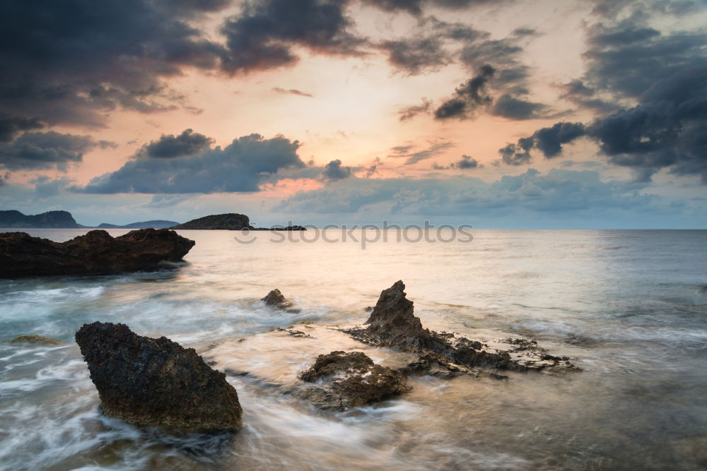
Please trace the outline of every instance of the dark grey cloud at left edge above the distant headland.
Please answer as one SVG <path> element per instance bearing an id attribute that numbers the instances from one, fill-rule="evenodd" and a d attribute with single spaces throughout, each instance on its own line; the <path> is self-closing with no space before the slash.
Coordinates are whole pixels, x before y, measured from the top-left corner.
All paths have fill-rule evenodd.
<path id="1" fill-rule="evenodd" d="M 0 144 L 0 168 L 10 171 L 54 168 L 65 172 L 68 164 L 81 162 L 88 150 L 110 145 L 107 141 L 97 143 L 89 136 L 27 132 L 10 143 Z"/>

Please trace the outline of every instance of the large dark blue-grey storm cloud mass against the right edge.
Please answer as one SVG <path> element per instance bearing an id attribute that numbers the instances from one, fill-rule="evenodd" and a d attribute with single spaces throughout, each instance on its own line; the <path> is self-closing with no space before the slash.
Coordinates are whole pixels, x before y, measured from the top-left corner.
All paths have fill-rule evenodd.
<path id="1" fill-rule="evenodd" d="M 699 175 L 707 184 L 707 34 L 663 35 L 629 19 L 590 28 L 589 44 L 588 73 L 581 83 L 566 85 L 567 93 L 585 98 L 601 93 L 633 104 L 588 124 L 539 129 L 523 143 L 530 140 L 531 148 L 551 158 L 561 154 L 564 143 L 586 136 L 609 162 L 632 169 L 638 181 L 668 169 Z M 504 162 L 519 147 L 520 141 L 499 150 Z M 528 152 L 520 154 L 530 160 Z M 508 158 L 506 163 L 515 161 Z"/>

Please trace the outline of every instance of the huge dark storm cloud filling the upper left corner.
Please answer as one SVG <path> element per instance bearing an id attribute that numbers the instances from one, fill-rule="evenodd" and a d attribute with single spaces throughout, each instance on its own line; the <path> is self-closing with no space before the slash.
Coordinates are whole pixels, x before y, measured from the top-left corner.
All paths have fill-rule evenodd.
<path id="1" fill-rule="evenodd" d="M 3 1 L 0 63 L 12 66 L 0 77 L 0 112 L 16 122 L 100 127 L 117 108 L 173 109 L 160 79 L 215 68 L 223 54 L 185 17 L 224 3 Z"/>

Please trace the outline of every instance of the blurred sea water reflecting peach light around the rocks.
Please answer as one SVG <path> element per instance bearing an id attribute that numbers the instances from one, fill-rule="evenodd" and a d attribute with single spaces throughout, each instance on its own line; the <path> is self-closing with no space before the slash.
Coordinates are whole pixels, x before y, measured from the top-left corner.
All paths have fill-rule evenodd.
<path id="1" fill-rule="evenodd" d="M 0 280 L 0 469 L 707 468 L 707 231 L 474 230 L 472 242 L 441 243 L 397 242 L 391 230 L 366 249 L 360 231 L 335 243 L 312 231 L 250 244 L 229 231 L 180 234 L 197 245 L 170 270 Z M 295 382 L 317 354 L 395 362 L 325 326 L 363 323 L 399 279 L 424 326 L 532 338 L 583 371 L 410 378 L 408 395 L 346 412 L 283 393 L 277 383 Z M 263 306 L 275 287 L 301 311 Z M 74 343 L 93 321 L 252 373 L 228 376 L 243 429 L 171 436 L 102 417 Z M 303 323 L 316 340 L 269 332 Z M 9 342 L 24 334 L 62 343 Z"/>

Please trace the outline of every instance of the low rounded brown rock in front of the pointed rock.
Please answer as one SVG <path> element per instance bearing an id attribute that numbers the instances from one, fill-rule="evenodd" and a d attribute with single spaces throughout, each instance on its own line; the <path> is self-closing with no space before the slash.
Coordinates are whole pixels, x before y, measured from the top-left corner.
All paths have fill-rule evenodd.
<path id="1" fill-rule="evenodd" d="M 322 409 L 346 410 L 407 393 L 407 379 L 400 371 L 374 364 L 362 352 L 331 352 L 317 357 L 300 378 L 321 382 L 298 395 Z"/>

